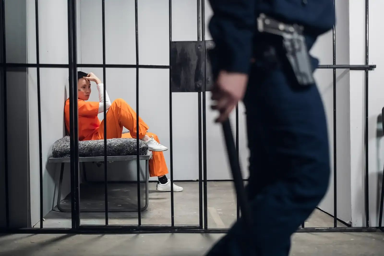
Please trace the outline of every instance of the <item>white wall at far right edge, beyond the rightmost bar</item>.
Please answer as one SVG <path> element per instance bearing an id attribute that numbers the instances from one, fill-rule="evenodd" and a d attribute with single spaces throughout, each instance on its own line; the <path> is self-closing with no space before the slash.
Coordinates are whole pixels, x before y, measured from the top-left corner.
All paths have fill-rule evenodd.
<path id="1" fill-rule="evenodd" d="M 358 4 L 356 3 L 356 5 Z M 384 80 L 384 49 L 382 47 L 382 26 L 380 25 L 382 20 L 382 13 L 380 10 L 383 8 L 384 2 L 369 1 L 369 64 L 377 65 L 377 68 L 374 71 L 369 71 L 368 73 L 368 177 L 370 226 L 377 226 L 379 221 L 379 198 L 384 164 L 382 124 L 378 121 L 381 109 L 384 106 L 384 88 L 382 86 L 382 81 Z M 363 36 L 361 36 L 361 38 L 363 38 Z M 361 57 L 362 54 L 357 53 L 357 55 Z M 362 79 L 360 78 L 359 80 L 356 80 L 356 83 L 361 84 L 361 81 Z M 358 180 L 359 177 L 362 177 L 362 175 L 360 174 L 356 177 L 356 180 Z M 360 205 L 357 205 L 356 207 L 361 208 Z M 356 217 L 360 220 L 361 218 L 359 218 L 358 214 L 359 213 L 356 211 Z"/>

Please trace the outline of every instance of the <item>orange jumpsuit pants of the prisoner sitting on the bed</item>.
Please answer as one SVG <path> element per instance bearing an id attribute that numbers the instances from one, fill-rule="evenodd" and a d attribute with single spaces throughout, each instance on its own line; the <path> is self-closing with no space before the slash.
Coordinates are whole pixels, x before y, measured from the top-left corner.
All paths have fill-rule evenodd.
<path id="1" fill-rule="evenodd" d="M 107 122 L 107 139 L 111 138 L 137 138 L 136 134 L 136 112 L 131 106 L 122 99 L 116 99 L 112 102 L 111 107 L 106 114 Z M 122 134 L 122 128 L 126 127 L 129 133 Z M 148 126 L 139 117 L 139 139 L 142 139 L 144 135 L 154 137 L 154 139 L 160 143 L 159 137 L 156 134 L 147 132 Z M 104 139 L 104 120 L 101 122 L 99 130 L 93 139 Z M 168 168 L 166 160 L 164 159 L 163 152 L 152 152 L 152 159 L 149 160 L 149 176 L 157 177 L 166 175 Z"/>

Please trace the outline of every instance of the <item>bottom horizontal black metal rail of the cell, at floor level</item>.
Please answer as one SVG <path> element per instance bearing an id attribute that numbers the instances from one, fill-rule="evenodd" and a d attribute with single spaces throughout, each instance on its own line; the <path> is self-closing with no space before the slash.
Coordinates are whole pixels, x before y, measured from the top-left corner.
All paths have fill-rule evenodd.
<path id="1" fill-rule="evenodd" d="M 116 228 L 116 226 L 108 226 L 108 228 L 101 228 L 104 226 L 95 226 L 93 228 L 79 229 L 70 228 L 22 228 L 22 229 L 0 229 L 3 234 L 137 234 L 137 233 L 227 233 L 228 229 L 212 228 L 212 229 L 191 229 L 191 228 L 177 228 L 173 229 L 125 229 Z M 300 228 L 297 232 L 379 232 L 379 228 Z"/>

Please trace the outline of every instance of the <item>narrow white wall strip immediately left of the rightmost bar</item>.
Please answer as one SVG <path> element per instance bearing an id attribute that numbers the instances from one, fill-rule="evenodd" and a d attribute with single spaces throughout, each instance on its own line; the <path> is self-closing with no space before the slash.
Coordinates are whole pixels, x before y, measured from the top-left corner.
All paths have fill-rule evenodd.
<path id="1" fill-rule="evenodd" d="M 372 2 L 372 1 L 370 1 Z M 372 8 L 369 12 L 372 13 Z M 365 3 L 350 1 L 349 4 L 349 47 L 351 64 L 365 63 Z M 370 27 L 372 23 L 370 24 Z M 369 34 L 372 36 L 370 29 Z M 379 63 L 377 63 L 379 64 Z M 378 65 L 378 67 L 380 67 Z M 369 76 L 377 75 L 377 69 L 369 71 Z M 351 141 L 351 195 L 352 195 L 352 225 L 365 226 L 364 207 L 364 170 L 365 170 L 365 107 L 364 107 L 364 71 L 350 73 L 350 141 Z M 372 81 L 369 81 L 372 85 Z M 371 87 L 371 86 L 370 86 Z M 371 100 L 371 99 L 370 99 Z M 371 152 L 371 151 L 369 151 Z M 370 166 L 372 167 L 372 166 Z"/>

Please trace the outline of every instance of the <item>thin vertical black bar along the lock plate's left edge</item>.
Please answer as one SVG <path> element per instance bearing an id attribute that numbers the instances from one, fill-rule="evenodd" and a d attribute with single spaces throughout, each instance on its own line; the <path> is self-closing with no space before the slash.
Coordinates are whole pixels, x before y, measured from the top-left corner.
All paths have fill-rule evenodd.
<path id="1" fill-rule="evenodd" d="M 169 0 L 169 64 L 170 64 L 170 47 L 172 42 L 172 0 Z M 172 147 L 172 85 L 171 85 L 171 68 L 169 68 L 169 149 L 170 149 L 170 215 L 171 225 L 175 225 L 175 210 L 173 196 L 173 147 Z"/>

